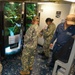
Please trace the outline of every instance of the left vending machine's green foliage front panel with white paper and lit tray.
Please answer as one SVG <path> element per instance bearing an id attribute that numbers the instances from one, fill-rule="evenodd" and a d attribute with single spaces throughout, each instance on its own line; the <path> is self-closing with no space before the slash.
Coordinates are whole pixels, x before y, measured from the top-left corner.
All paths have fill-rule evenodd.
<path id="1" fill-rule="evenodd" d="M 4 46 L 5 54 L 13 54 L 21 49 L 22 3 L 4 3 Z"/>

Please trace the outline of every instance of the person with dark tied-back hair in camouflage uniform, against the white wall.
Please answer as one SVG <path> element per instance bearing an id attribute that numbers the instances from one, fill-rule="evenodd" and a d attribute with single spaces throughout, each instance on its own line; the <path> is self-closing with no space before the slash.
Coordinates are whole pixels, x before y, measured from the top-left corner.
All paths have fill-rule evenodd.
<path id="1" fill-rule="evenodd" d="M 43 29 L 43 37 L 44 37 L 44 44 L 43 44 L 44 52 L 43 52 L 43 54 L 44 54 L 44 56 L 42 57 L 42 59 L 48 59 L 49 58 L 49 55 L 50 55 L 50 49 L 49 49 L 50 41 L 51 41 L 51 39 L 53 37 L 53 34 L 54 34 L 54 31 L 56 29 L 56 26 L 53 23 L 53 19 L 47 18 L 46 19 L 46 24 L 48 25 L 47 29 Z"/>

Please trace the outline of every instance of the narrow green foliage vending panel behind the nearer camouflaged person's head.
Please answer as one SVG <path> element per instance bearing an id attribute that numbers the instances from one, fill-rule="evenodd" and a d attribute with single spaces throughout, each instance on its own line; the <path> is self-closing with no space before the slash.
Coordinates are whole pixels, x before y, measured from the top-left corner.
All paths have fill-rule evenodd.
<path id="1" fill-rule="evenodd" d="M 24 27 L 25 32 L 30 27 L 32 18 L 37 15 L 37 3 L 25 2 Z"/>

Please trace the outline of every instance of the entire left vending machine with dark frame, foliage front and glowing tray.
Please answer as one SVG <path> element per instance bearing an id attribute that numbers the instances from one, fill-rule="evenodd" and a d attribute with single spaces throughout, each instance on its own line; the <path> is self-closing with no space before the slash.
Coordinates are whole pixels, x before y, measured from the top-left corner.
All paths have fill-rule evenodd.
<path id="1" fill-rule="evenodd" d="M 21 51 L 21 19 L 21 2 L 0 2 L 0 50 L 2 55 L 15 54 Z"/>

